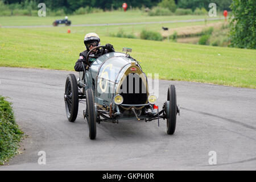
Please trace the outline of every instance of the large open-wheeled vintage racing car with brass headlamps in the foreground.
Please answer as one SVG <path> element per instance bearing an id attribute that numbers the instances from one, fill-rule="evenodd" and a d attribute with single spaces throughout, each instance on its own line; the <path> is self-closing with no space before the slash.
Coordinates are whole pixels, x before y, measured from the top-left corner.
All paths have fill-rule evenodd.
<path id="1" fill-rule="evenodd" d="M 175 86 L 169 86 L 167 100 L 159 111 L 155 105 L 156 96 L 148 92 L 146 74 L 139 62 L 127 54 L 131 49 L 123 48 L 126 53 L 104 54 L 102 51 L 101 56 L 94 57 L 90 63 L 89 57 L 93 57 L 90 53 L 96 48 L 105 46 L 89 51 L 86 63 L 90 67 L 79 72 L 78 79 L 74 74 L 66 79 L 64 101 L 68 120 L 76 120 L 79 102 L 84 102 L 84 119 L 88 122 L 90 139 L 96 138 L 96 123 L 118 123 L 128 119 L 146 122 L 158 119 L 159 126 L 159 118 L 163 118 L 167 120 L 167 134 L 174 134 L 179 113 Z"/>

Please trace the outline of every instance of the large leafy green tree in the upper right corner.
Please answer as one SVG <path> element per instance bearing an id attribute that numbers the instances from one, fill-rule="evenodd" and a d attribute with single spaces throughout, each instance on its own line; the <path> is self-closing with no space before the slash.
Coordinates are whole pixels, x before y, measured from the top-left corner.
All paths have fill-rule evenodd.
<path id="1" fill-rule="evenodd" d="M 256 49 L 256 1 L 233 0 L 230 6 L 234 15 L 231 20 L 231 46 Z"/>

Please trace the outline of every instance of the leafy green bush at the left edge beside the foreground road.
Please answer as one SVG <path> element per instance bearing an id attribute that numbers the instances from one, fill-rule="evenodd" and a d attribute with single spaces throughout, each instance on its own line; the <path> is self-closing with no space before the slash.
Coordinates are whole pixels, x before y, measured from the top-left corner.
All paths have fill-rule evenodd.
<path id="1" fill-rule="evenodd" d="M 22 137 L 23 132 L 15 122 L 11 103 L 0 96 L 0 165 L 17 153 Z"/>

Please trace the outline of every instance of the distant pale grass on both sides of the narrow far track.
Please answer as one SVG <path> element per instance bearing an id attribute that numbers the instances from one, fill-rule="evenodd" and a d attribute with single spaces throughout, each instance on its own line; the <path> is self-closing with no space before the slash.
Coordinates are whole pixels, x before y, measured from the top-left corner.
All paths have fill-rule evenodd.
<path id="1" fill-rule="evenodd" d="M 63 19 L 63 16 L 0 16 L 0 25 L 2 26 L 52 26 L 52 22 L 56 19 Z M 96 24 L 96 23 L 131 23 L 131 22 L 163 22 L 168 20 L 192 20 L 192 19 L 211 19 L 204 15 L 182 15 L 182 16 L 148 16 L 139 10 L 133 11 L 112 11 L 104 13 L 93 13 L 85 15 L 71 15 L 72 25 L 76 24 Z M 220 18 L 218 16 L 218 18 Z M 220 22 L 224 20 L 210 20 L 208 23 Z M 122 26 L 90 26 L 90 27 L 36 27 L 30 28 L 42 31 L 67 32 L 71 29 L 73 34 L 86 34 L 87 32 L 97 32 L 100 36 L 109 36 L 117 34 L 122 29 L 125 34 L 134 34 L 139 37 L 143 29 L 151 31 L 161 31 L 162 26 L 168 28 L 188 27 L 205 24 L 202 22 L 178 22 L 178 23 L 153 23 L 153 24 L 135 24 Z"/>

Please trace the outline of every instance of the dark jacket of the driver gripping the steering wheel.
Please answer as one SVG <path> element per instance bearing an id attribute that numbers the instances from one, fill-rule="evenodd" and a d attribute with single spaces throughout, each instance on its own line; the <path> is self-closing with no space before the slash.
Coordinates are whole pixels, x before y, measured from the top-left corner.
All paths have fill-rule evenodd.
<path id="1" fill-rule="evenodd" d="M 102 51 L 103 51 L 103 49 L 98 49 L 96 53 L 92 52 L 90 55 L 100 57 Z M 115 51 L 114 48 L 112 48 L 110 51 L 108 49 L 105 49 L 105 53 L 114 52 L 114 51 Z M 79 59 L 76 61 L 76 64 L 75 64 L 75 67 L 74 67 L 75 71 L 77 71 L 77 72 L 84 71 L 84 69 L 82 68 L 82 64 L 84 64 L 84 68 L 86 68 L 86 66 L 87 66 L 86 56 L 87 56 L 88 52 L 89 51 L 85 50 L 85 51 L 80 53 Z M 89 62 L 90 63 L 92 63 L 94 60 L 95 60 L 95 58 L 90 58 L 89 57 Z"/>

